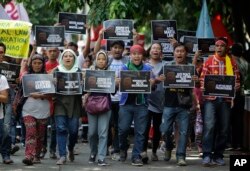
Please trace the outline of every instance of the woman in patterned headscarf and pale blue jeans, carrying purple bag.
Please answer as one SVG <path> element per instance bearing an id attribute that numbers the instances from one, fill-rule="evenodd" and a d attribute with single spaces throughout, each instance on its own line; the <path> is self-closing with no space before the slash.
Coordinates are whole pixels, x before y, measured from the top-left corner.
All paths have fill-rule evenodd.
<path id="1" fill-rule="evenodd" d="M 108 55 L 105 51 L 99 51 L 96 54 L 94 65 L 90 67 L 91 70 L 107 70 L 108 69 Z M 90 157 L 89 163 L 94 163 L 96 158 L 99 166 L 109 165 L 105 161 L 107 154 L 107 142 L 108 142 L 108 129 L 109 120 L 111 116 L 111 97 L 109 93 L 88 93 L 88 100 L 91 101 L 91 96 L 94 98 L 106 98 L 108 103 L 103 103 L 103 105 L 108 105 L 108 110 L 99 111 L 99 113 L 92 113 L 88 110 L 87 105 L 85 105 L 85 110 L 88 114 L 88 137 L 90 146 Z M 87 102 L 86 102 L 87 103 Z M 92 108 L 97 108 L 98 106 L 90 106 Z M 106 109 L 106 108 L 104 108 Z"/>

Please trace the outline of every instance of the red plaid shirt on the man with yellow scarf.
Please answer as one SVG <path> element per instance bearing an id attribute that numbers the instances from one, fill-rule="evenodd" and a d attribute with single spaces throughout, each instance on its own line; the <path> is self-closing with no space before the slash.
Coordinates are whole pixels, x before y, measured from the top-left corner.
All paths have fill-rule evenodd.
<path id="1" fill-rule="evenodd" d="M 235 62 L 234 59 L 231 59 L 231 64 L 233 67 L 233 72 L 235 75 L 235 79 L 236 79 L 236 84 L 240 83 L 240 73 L 238 70 L 238 66 Z M 204 78 L 205 75 L 227 75 L 226 74 L 226 58 L 224 57 L 218 57 L 218 56 L 210 56 L 208 57 L 208 59 L 206 60 L 206 62 L 203 64 L 203 68 L 202 68 L 202 73 L 200 76 L 200 84 L 201 84 L 201 88 L 204 89 Z M 215 100 L 216 97 L 215 96 L 205 96 L 204 97 L 207 100 Z M 231 101 L 232 98 L 224 98 L 226 101 Z"/>

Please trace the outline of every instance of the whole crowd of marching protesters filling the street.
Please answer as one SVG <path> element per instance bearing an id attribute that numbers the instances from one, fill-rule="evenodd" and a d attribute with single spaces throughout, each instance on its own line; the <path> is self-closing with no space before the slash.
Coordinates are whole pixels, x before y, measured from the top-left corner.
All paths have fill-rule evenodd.
<path id="1" fill-rule="evenodd" d="M 80 55 L 74 42 L 69 42 L 62 51 L 50 47 L 39 53 L 33 45 L 29 59 L 20 61 L 5 56 L 6 46 L 0 43 L 0 63 L 21 65 L 16 84 L 8 84 L 6 77 L 0 75 L 0 149 L 4 164 L 13 163 L 10 156 L 19 150 L 16 145 L 17 123 L 21 125 L 19 134 L 25 147 L 23 163 L 26 165 L 41 163 L 47 148 L 49 157 L 58 159 L 57 165 L 73 162 L 79 122 L 88 124 L 82 134 L 83 141 L 90 146 L 88 163 L 97 161 L 100 166 L 109 165 L 105 160 L 107 155 L 112 155 L 112 160 L 127 160 L 130 143 L 134 144 L 131 164 L 142 166 L 149 160 L 147 148 L 150 140 L 152 161 L 159 160 L 157 150 L 162 142 L 164 160 L 171 160 L 172 151 L 176 148 L 177 165 L 186 166 L 191 132 L 195 132 L 194 139 L 203 166 L 225 165 L 223 154 L 228 142 L 234 149 L 243 148 L 244 82 L 249 71 L 241 44 L 234 44 L 229 53 L 227 39 L 218 38 L 214 55 L 204 60 L 197 51 L 192 63 L 189 63 L 187 47 L 173 42 L 173 60 L 164 61 L 159 43 L 153 43 L 147 54 L 144 47 L 135 41 L 127 56 L 124 55 L 124 42 L 116 40 L 106 52 L 101 47 L 104 31 L 100 31 L 95 47 L 91 49 L 90 29 L 87 28 L 86 44 Z M 194 65 L 196 73 L 192 79 L 195 88 L 164 88 L 163 82 L 168 79 L 163 74 L 164 65 Z M 83 92 L 82 95 L 32 93 L 25 99 L 21 114 L 16 113 L 13 104 L 19 89 L 22 89 L 20 84 L 24 75 L 54 74 L 57 71 L 84 73 L 88 69 L 115 71 L 117 91 L 113 94 Z M 119 92 L 121 70 L 151 71 L 151 94 Z M 202 96 L 205 75 L 234 75 L 235 98 Z M 84 100 L 91 96 L 108 97 L 110 110 L 98 115 L 89 113 Z M 188 100 L 183 102 L 180 96 Z M 128 140 L 131 125 L 134 142 Z M 150 139 L 152 130 L 154 134 Z M 50 140 L 47 139 L 48 132 Z M 50 142 L 49 147 L 47 142 Z"/>

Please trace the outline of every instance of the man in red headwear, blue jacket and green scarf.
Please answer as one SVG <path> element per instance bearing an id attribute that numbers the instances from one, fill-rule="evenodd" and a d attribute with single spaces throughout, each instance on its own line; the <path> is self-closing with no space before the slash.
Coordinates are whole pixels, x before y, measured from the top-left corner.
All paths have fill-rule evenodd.
<path id="1" fill-rule="evenodd" d="M 149 65 L 143 63 L 144 49 L 140 45 L 133 45 L 130 48 L 130 61 L 123 66 L 122 70 L 130 71 L 151 71 Z M 154 84 L 154 79 L 150 79 Z M 142 166 L 141 153 L 145 141 L 145 131 L 148 122 L 147 116 L 147 95 L 146 94 L 128 94 L 122 93 L 119 110 L 119 144 L 120 144 L 120 161 L 127 159 L 128 151 L 128 133 L 132 121 L 134 121 L 134 146 L 132 150 L 132 165 Z"/>

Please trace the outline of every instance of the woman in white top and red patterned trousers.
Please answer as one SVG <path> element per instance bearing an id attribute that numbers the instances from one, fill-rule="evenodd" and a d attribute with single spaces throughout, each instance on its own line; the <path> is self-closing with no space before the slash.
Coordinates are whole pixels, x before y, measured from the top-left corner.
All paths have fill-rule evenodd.
<path id="1" fill-rule="evenodd" d="M 45 74 L 45 58 L 35 54 L 30 59 L 27 74 Z M 22 109 L 23 121 L 26 128 L 25 159 L 23 163 L 32 165 L 41 163 L 40 153 L 49 117 L 49 95 L 31 93 Z"/>

